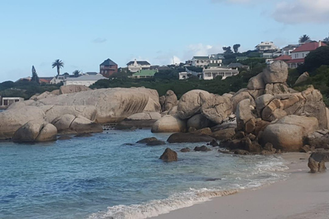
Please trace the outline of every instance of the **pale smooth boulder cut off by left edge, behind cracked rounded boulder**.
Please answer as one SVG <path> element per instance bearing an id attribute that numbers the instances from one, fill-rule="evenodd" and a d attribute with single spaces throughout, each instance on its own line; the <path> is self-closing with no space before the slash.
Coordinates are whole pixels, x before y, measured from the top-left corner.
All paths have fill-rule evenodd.
<path id="1" fill-rule="evenodd" d="M 45 113 L 39 107 L 24 106 L 0 112 L 0 140 L 12 138 L 15 131 L 30 120 L 45 120 Z"/>

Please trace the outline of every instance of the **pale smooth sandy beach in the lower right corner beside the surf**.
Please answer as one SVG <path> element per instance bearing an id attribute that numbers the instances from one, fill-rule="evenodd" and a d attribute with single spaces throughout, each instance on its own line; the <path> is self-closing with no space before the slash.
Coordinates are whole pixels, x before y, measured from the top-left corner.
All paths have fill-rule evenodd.
<path id="1" fill-rule="evenodd" d="M 329 218 L 329 172 L 308 173 L 309 154 L 282 155 L 291 173 L 286 181 L 163 214 L 156 219 Z M 302 159 L 301 159 L 302 158 Z"/>

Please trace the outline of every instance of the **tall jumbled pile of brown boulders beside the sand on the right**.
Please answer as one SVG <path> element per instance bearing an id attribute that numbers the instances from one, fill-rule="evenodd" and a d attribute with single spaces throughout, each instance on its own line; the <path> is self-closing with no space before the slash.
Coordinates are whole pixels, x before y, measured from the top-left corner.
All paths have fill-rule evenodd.
<path id="1" fill-rule="evenodd" d="M 287 64 L 278 61 L 236 93 L 220 96 L 191 90 L 176 101 L 170 90 L 160 96 L 162 118 L 151 131 L 178 132 L 169 137 L 169 143 L 219 140 L 238 154 L 323 148 L 326 144 L 314 145 L 329 143 L 329 110 L 321 93 L 313 86 L 297 92 L 287 86 L 287 78 Z"/>

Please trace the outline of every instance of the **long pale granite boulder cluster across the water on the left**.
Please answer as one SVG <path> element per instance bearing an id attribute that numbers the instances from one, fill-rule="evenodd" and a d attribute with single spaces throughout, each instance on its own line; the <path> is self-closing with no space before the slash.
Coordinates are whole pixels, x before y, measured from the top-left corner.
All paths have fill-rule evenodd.
<path id="1" fill-rule="evenodd" d="M 169 102 L 168 102 L 169 104 Z M 103 123 L 127 123 L 161 118 L 156 90 L 61 86 L 59 90 L 34 95 L 0 113 L 0 140 L 45 142 L 58 135 L 102 132 Z"/>

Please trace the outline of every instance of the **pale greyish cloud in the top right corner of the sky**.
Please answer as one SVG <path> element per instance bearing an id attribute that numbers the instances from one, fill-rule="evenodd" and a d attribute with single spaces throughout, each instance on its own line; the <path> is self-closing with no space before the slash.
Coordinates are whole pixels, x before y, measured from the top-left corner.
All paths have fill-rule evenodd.
<path id="1" fill-rule="evenodd" d="M 328 0 L 293 0 L 280 1 L 276 4 L 272 17 L 287 24 L 328 23 Z"/>

